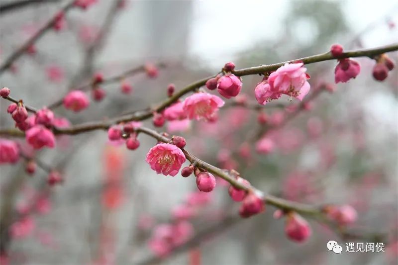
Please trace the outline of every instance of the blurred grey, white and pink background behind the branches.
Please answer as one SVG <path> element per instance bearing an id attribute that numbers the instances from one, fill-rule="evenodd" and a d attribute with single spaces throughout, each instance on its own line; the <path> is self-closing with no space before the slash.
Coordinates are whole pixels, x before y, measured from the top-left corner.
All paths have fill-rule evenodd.
<path id="1" fill-rule="evenodd" d="M 1 1 L 1 5 L 17 2 Z M 45 1 L 0 11 L 1 61 L 17 49 L 68 1 Z M 273 64 L 323 53 L 334 43 L 345 49 L 372 48 L 398 40 L 398 4 L 394 0 L 345 1 L 125 1 L 98 0 L 87 10 L 72 8 L 66 27 L 47 32 L 36 52 L 23 55 L 1 76 L 1 87 L 41 108 L 68 90 L 87 84 L 94 73 L 105 79 L 146 63 L 166 65 L 156 79 L 145 73 L 127 77 L 133 91 L 120 83 L 104 85 L 106 97 L 83 112 L 63 106 L 57 116 L 71 124 L 106 120 L 144 109 L 177 90 L 220 71 L 233 61 L 237 69 Z M 98 34 L 101 33 L 101 38 Z M 100 41 L 98 41 L 100 39 Z M 95 44 L 95 45 L 94 45 Z M 390 53 L 397 62 L 397 53 Z M 307 65 L 311 89 L 333 84 L 294 119 L 269 137 L 275 147 L 258 154 L 252 139 L 260 125 L 258 110 L 225 107 L 215 123 L 166 124 L 161 131 L 186 137 L 187 149 L 221 168 L 234 168 L 254 186 L 295 201 L 350 204 L 358 220 L 350 231 L 382 234 L 385 253 L 345 253 L 345 243 L 328 228 L 310 221 L 313 234 L 304 244 L 289 241 L 284 220 L 275 220 L 269 206 L 249 219 L 237 216 L 239 203 L 222 182 L 196 209 L 193 234 L 209 228 L 204 240 L 171 254 L 160 264 L 396 264 L 397 236 L 397 71 L 384 82 L 372 77 L 374 60 L 358 58 L 361 74 L 334 85 L 336 62 Z M 242 93 L 255 101 L 259 76 L 243 77 Z M 227 102 L 233 100 L 226 100 Z M 297 105 L 282 97 L 263 108 L 270 124 Z M 0 100 L 0 125 L 13 127 Z M 285 112 L 284 112 L 285 111 Z M 284 114 L 285 113 L 285 114 Z M 153 127 L 152 122 L 144 122 Z M 177 128 L 179 127 L 179 128 Z M 261 135 L 262 136 L 262 135 Z M 173 209 L 196 192 L 194 177 L 156 175 L 145 156 L 156 141 L 140 135 L 141 146 L 129 151 L 94 131 L 62 136 L 55 149 L 34 154 L 56 168 L 65 181 L 48 189 L 48 173 L 25 173 L 25 164 L 1 165 L 2 264 L 139 264 L 157 257 L 149 242 L 159 224 L 172 222 Z M 258 140 L 258 139 L 257 139 Z M 24 139 L 19 140 L 23 146 Z M 43 184 L 44 183 L 44 184 Z M 44 197 L 44 202 L 32 202 Z M 188 198 L 187 198 L 188 197 Z M 32 229 L 10 236 L 26 205 Z M 43 206 L 44 204 L 44 206 Z M 32 206 L 33 207 L 33 206 Z M 43 209 L 44 207 L 44 209 Z M 232 216 L 232 218 L 230 218 Z M 336 240 L 342 255 L 327 252 Z"/>

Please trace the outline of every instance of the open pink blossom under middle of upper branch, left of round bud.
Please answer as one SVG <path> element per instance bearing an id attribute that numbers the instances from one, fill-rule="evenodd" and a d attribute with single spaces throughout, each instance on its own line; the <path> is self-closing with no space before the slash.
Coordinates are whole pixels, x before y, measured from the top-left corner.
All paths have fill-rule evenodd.
<path id="1" fill-rule="evenodd" d="M 206 92 L 194 93 L 184 100 L 183 109 L 189 119 L 211 120 L 225 102 L 218 96 Z"/>

